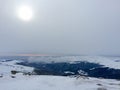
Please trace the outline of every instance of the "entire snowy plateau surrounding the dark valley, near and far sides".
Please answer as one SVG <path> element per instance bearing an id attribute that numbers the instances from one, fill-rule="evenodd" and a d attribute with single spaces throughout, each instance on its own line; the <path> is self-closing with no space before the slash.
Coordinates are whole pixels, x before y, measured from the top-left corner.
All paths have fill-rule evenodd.
<path id="1" fill-rule="evenodd" d="M 49 59 L 48 59 L 49 58 Z M 89 76 L 36 75 L 34 67 L 21 62 L 50 63 L 88 61 L 105 67 L 120 69 L 120 57 L 64 56 L 64 57 L 1 57 L 0 90 L 120 90 L 119 79 Z M 17 71 L 17 72 L 15 72 Z M 29 75 L 29 73 L 32 73 Z M 79 70 L 79 72 L 82 72 Z M 28 73 L 25 75 L 25 73 Z M 65 73 L 73 73 L 66 71 Z M 82 72 L 83 73 L 83 72 Z"/>

